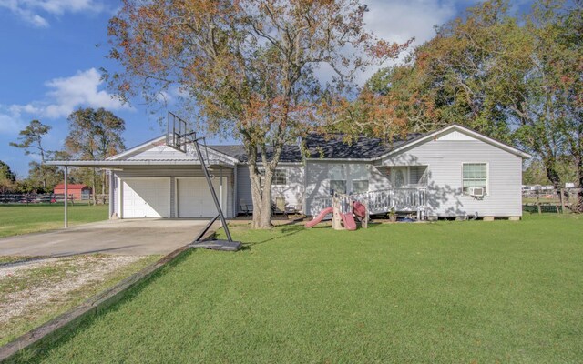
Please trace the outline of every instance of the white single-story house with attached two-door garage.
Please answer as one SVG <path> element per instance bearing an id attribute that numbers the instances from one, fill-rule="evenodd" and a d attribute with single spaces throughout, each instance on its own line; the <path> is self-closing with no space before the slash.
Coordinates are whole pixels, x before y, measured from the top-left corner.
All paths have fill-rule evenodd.
<path id="1" fill-rule="evenodd" d="M 216 208 L 193 150 L 179 152 L 165 136 L 101 161 L 52 161 L 110 171 L 112 217 L 214 217 Z M 307 215 L 331 204 L 331 190 L 352 194 L 371 213 L 391 209 L 419 217 L 521 217 L 522 161 L 527 153 L 464 126 L 411 134 L 385 144 L 359 137 L 311 135 L 286 146 L 272 183 L 273 197 Z M 208 166 L 226 217 L 251 204 L 249 165 L 242 146 L 209 146 Z M 203 147 L 203 154 L 205 153 Z"/>

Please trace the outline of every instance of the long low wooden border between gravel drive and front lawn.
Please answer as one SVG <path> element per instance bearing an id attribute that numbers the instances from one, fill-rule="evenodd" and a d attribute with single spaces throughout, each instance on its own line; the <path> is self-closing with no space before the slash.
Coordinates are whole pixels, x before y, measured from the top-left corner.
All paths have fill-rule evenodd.
<path id="1" fill-rule="evenodd" d="M 214 230 L 210 230 L 202 239 L 211 238 L 215 234 Z M 55 319 L 51 319 L 36 329 L 32 329 L 21 337 L 5 344 L 0 348 L 0 363 L 18 362 L 19 354 L 22 354 L 22 359 L 26 361 L 33 358 L 41 349 L 56 343 L 56 341 L 72 332 L 87 319 L 120 301 L 126 296 L 130 288 L 148 280 L 148 278 L 159 272 L 161 268 L 180 258 L 189 249 L 188 246 L 184 246 L 174 250 L 157 262 L 123 279 L 112 288 L 107 288 L 77 307 L 69 309 Z"/>

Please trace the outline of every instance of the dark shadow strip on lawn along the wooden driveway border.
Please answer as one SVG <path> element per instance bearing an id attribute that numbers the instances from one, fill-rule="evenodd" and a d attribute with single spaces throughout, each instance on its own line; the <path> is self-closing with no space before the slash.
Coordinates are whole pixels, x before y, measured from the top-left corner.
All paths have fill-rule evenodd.
<path id="1" fill-rule="evenodd" d="M 129 288 L 128 291 L 126 291 L 125 294 L 123 294 L 123 298 L 120 298 L 117 302 L 115 302 L 111 306 L 102 309 L 97 308 L 94 314 L 88 315 L 87 317 L 81 319 L 81 321 L 79 322 L 74 322 L 71 328 L 62 329 L 64 331 L 57 335 L 57 337 L 60 336 L 60 338 L 58 339 L 49 338 L 46 340 L 46 342 L 40 344 L 39 347 L 36 347 L 32 350 L 26 349 L 21 350 L 15 355 L 14 358 L 5 362 L 30 363 L 45 360 L 48 357 L 50 350 L 65 345 L 71 339 L 75 338 L 79 332 L 82 332 L 83 330 L 88 329 L 91 325 L 93 325 L 97 319 L 107 315 L 108 313 L 118 311 L 119 308 L 121 308 L 123 305 L 125 305 L 132 299 L 136 298 L 140 294 L 140 292 L 144 290 L 144 288 L 148 287 L 150 283 L 164 276 L 169 271 L 169 269 L 177 267 L 180 264 L 184 263 L 184 261 L 187 258 L 189 258 L 190 255 L 194 254 L 195 250 L 196 249 L 189 248 L 183 251 L 182 253 L 179 254 L 177 258 L 174 258 L 168 264 L 166 264 L 162 268 L 159 268 L 154 274 L 144 279 L 143 281 L 139 282 L 137 285 Z"/>

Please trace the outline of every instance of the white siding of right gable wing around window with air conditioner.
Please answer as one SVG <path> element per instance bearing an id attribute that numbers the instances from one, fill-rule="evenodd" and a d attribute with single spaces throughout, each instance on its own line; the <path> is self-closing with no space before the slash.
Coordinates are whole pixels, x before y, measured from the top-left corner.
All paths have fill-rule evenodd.
<path id="1" fill-rule="evenodd" d="M 487 163 L 487 196 L 464 196 L 462 163 Z M 427 216 L 522 216 L 522 158 L 486 142 L 439 138 L 386 157 L 382 164 L 428 166 Z"/>

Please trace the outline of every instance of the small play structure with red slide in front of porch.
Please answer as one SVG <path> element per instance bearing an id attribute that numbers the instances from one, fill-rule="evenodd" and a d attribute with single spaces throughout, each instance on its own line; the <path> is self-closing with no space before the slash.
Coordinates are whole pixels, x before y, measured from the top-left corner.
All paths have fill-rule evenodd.
<path id="1" fill-rule="evenodd" d="M 345 212 L 343 210 L 346 210 Z M 322 221 L 326 215 L 332 214 L 332 228 L 335 230 L 356 230 L 356 220 L 360 220 L 361 226 L 368 227 L 368 210 L 366 206 L 352 197 L 334 193 L 332 195 L 332 207 L 326 207 L 312 221 L 306 223 L 306 227 L 314 227 Z"/>

